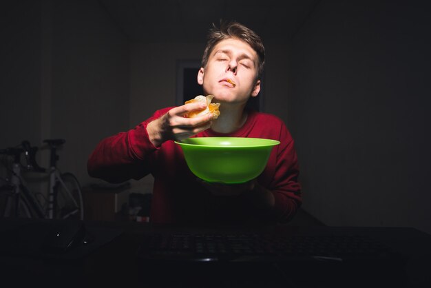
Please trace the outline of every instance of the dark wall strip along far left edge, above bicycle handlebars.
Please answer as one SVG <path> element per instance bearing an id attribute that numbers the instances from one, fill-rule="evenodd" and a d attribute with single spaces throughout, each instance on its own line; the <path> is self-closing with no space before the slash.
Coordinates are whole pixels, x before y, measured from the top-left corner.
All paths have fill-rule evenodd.
<path id="1" fill-rule="evenodd" d="M 0 13 L 0 147 L 6 148 L 24 137 L 40 141 L 41 9 L 21 1 Z"/>

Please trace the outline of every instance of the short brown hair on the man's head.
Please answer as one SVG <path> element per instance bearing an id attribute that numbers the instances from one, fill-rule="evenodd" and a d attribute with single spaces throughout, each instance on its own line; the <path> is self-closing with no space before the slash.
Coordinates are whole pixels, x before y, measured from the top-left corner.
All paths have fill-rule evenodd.
<path id="1" fill-rule="evenodd" d="M 262 39 L 253 30 L 235 21 L 220 21 L 220 28 L 213 23 L 213 28 L 209 30 L 207 36 L 207 47 L 202 56 L 202 67 L 207 66 L 209 55 L 217 43 L 224 39 L 237 38 L 248 43 L 257 53 L 257 79 L 260 79 L 264 70 L 265 48 Z"/>

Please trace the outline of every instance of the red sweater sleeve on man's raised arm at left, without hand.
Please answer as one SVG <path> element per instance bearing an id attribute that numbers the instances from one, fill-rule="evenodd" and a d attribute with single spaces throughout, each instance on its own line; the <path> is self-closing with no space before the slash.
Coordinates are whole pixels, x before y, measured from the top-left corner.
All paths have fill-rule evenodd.
<path id="1" fill-rule="evenodd" d="M 168 110 L 158 110 L 134 129 L 104 138 L 88 158 L 88 174 L 109 183 L 138 180 L 149 174 L 149 158 L 158 148 L 149 141 L 147 125 Z"/>

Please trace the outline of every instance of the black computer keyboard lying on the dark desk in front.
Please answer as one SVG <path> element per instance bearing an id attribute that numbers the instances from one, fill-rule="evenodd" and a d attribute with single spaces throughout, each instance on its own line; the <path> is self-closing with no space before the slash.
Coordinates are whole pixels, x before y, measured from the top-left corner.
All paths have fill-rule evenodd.
<path id="1" fill-rule="evenodd" d="M 273 234 L 147 234 L 138 258 L 190 261 L 393 262 L 401 256 L 359 235 L 276 236 Z"/>

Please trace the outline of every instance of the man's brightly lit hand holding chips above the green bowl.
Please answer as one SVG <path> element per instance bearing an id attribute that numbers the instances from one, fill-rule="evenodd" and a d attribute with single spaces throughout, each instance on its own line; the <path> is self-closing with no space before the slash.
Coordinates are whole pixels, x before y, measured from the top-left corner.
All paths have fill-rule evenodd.
<path id="1" fill-rule="evenodd" d="M 165 141 L 180 141 L 207 130 L 211 127 L 213 119 L 211 113 L 194 118 L 185 117 L 185 114 L 205 107 L 207 107 L 205 103 L 189 103 L 172 108 L 147 125 L 149 140 L 155 147 L 160 147 Z"/>

